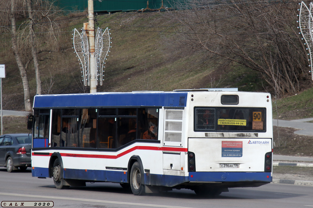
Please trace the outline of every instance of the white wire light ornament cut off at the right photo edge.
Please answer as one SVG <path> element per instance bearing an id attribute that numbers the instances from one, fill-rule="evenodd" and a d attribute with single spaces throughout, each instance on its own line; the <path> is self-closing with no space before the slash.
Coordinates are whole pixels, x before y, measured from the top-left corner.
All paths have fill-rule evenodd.
<path id="1" fill-rule="evenodd" d="M 308 56 L 310 61 L 310 72 L 311 72 L 311 79 L 313 80 L 313 68 L 312 68 L 312 53 L 311 50 L 313 49 L 313 17 L 312 17 L 312 10 L 313 4 L 310 3 L 310 9 L 305 5 L 304 2 L 301 2 L 300 7 L 300 15 L 299 15 L 299 28 L 301 34 L 304 38 L 306 48 L 308 50 Z"/>

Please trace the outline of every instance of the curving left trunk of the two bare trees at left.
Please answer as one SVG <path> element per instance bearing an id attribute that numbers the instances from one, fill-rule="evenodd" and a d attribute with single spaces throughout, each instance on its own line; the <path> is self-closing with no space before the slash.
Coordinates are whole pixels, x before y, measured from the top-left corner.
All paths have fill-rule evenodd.
<path id="1" fill-rule="evenodd" d="M 18 64 L 18 69 L 20 70 L 23 87 L 24 87 L 24 104 L 25 104 L 25 111 L 31 111 L 32 107 L 30 104 L 30 91 L 29 91 L 29 84 L 27 73 L 25 70 L 25 66 L 22 63 L 22 57 L 18 51 L 17 41 L 16 41 L 16 21 L 14 16 L 14 0 L 11 0 L 11 27 L 12 27 L 12 46 L 13 46 L 13 53 L 15 56 L 16 63 Z"/>

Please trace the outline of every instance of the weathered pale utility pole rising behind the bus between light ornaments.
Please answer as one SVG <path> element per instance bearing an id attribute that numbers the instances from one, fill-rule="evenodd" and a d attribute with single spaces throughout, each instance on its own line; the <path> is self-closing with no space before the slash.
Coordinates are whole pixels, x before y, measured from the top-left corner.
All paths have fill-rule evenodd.
<path id="1" fill-rule="evenodd" d="M 96 59 L 95 59 L 95 20 L 94 1 L 88 0 L 89 52 L 90 52 L 90 93 L 97 92 Z"/>

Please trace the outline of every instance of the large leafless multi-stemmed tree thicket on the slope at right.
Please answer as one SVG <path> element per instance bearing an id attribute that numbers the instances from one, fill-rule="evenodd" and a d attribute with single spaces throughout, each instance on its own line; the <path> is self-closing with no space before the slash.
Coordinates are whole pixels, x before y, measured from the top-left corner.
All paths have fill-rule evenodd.
<path id="1" fill-rule="evenodd" d="M 295 28 L 293 1 L 194 0 L 194 7 L 173 12 L 180 22 L 173 45 L 216 55 L 211 63 L 235 64 L 257 71 L 278 94 L 295 94 L 309 79 L 308 62 Z M 276 60 L 271 65 L 271 60 Z M 279 80 L 279 82 L 277 82 Z"/>

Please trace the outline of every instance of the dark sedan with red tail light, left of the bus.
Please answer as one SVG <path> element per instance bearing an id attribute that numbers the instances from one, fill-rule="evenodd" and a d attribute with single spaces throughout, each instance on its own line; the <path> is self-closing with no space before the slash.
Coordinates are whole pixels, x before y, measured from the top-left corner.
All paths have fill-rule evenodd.
<path id="1" fill-rule="evenodd" d="M 31 167 L 32 135 L 27 133 L 0 136 L 0 166 L 8 172 Z"/>

